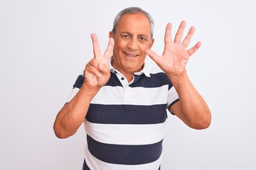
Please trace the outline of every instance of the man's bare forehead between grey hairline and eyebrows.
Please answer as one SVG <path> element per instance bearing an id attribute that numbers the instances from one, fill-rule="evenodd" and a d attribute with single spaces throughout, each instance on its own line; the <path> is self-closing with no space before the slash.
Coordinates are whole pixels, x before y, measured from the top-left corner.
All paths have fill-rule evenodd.
<path id="1" fill-rule="evenodd" d="M 127 13 L 117 23 L 117 33 L 150 35 L 149 18 L 143 13 Z"/>

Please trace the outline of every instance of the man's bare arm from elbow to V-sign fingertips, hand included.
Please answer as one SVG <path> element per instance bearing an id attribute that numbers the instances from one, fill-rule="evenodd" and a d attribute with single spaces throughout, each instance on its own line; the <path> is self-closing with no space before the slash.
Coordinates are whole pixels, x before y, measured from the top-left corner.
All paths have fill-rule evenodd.
<path id="1" fill-rule="evenodd" d="M 94 57 L 85 67 L 85 81 L 78 94 L 59 111 L 55 118 L 53 129 L 59 138 L 70 137 L 78 130 L 92 98 L 97 94 L 102 86 L 110 79 L 108 62 L 112 55 L 114 40 L 110 38 L 107 50 L 103 57 L 100 55 L 100 45 L 97 36 L 92 34 L 92 45 Z"/>

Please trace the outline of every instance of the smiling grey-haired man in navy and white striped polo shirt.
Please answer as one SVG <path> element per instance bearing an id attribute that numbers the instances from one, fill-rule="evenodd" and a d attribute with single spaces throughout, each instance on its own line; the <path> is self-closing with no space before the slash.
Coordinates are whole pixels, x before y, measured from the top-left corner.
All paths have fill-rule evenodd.
<path id="1" fill-rule="evenodd" d="M 208 128 L 208 106 L 186 74 L 201 42 L 187 50 L 195 28 L 181 41 L 185 26 L 182 21 L 172 41 L 168 23 L 161 57 L 150 50 L 154 23 L 141 8 L 119 12 L 103 56 L 97 36 L 91 35 L 94 57 L 54 123 L 60 138 L 85 124 L 83 169 L 160 169 L 166 108 L 191 128 Z M 147 67 L 146 55 L 164 72 Z"/>

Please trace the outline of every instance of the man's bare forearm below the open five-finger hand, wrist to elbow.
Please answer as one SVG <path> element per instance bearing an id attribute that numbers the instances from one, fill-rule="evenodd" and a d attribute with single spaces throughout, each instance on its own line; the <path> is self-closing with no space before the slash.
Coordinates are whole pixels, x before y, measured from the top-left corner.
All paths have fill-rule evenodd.
<path id="1" fill-rule="evenodd" d="M 176 113 L 191 128 L 202 129 L 210 125 L 210 110 L 202 96 L 188 79 L 186 71 L 179 75 L 169 75 L 180 100 Z M 174 112 L 175 113 L 175 112 Z"/>

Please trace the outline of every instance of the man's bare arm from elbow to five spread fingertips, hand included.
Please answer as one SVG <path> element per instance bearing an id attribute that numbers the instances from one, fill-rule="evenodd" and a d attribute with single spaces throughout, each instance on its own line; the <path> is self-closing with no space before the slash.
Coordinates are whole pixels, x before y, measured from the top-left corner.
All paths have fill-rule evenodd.
<path id="1" fill-rule="evenodd" d="M 159 57 L 152 50 L 147 50 L 147 54 L 164 70 L 178 93 L 179 101 L 171 106 L 171 111 L 189 127 L 203 129 L 208 128 L 210 125 L 210 110 L 193 84 L 191 84 L 186 73 L 188 59 L 201 47 L 201 42 L 197 42 L 196 45 L 187 50 L 186 48 L 191 41 L 195 28 L 191 27 L 188 35 L 181 42 L 185 26 L 186 21 L 182 21 L 174 42 L 172 42 L 171 23 L 169 23 L 166 26 L 163 55 Z"/>

